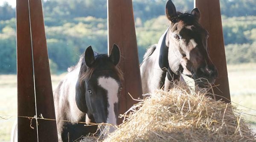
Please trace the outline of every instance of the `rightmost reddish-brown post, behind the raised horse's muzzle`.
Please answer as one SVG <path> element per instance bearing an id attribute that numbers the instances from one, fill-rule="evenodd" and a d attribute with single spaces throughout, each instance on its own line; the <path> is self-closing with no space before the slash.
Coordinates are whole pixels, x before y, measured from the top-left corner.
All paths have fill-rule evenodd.
<path id="1" fill-rule="evenodd" d="M 221 23 L 221 9 L 219 0 L 195 0 L 195 7 L 201 11 L 200 23 L 209 32 L 208 47 L 210 57 L 218 69 L 218 79 L 215 81 L 214 92 L 225 98 L 223 100 L 230 103 L 230 90 L 227 76 L 227 63 L 224 48 L 224 39 Z M 222 97 L 216 96 L 216 99 Z"/>

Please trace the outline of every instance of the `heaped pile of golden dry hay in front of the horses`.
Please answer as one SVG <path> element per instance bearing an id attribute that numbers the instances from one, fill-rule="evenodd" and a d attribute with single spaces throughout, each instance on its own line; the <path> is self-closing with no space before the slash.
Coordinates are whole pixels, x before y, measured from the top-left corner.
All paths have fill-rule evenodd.
<path id="1" fill-rule="evenodd" d="M 231 104 L 179 87 L 159 90 L 124 114 L 103 142 L 255 142 L 256 135 Z"/>

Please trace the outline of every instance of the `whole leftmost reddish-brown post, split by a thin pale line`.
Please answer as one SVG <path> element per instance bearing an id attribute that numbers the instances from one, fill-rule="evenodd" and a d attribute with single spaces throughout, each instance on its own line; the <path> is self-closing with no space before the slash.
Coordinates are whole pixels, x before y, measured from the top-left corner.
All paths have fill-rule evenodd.
<path id="1" fill-rule="evenodd" d="M 18 141 L 58 142 L 41 0 L 17 0 Z M 35 81 L 35 82 L 34 82 Z"/>

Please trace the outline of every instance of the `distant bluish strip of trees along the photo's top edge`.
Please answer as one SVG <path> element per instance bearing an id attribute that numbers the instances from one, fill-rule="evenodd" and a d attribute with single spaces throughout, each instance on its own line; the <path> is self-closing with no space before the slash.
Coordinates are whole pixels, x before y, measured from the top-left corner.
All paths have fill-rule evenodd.
<path id="1" fill-rule="evenodd" d="M 173 0 L 177 11 L 189 11 L 194 0 Z M 133 0 L 134 17 L 143 21 L 165 13 L 166 0 Z M 255 0 L 220 0 L 221 13 L 226 17 L 253 16 L 256 13 Z M 107 0 L 43 0 L 46 25 L 60 25 L 76 17 L 107 17 Z M 15 8 L 8 3 L 0 6 L 0 20 L 15 17 Z M 61 21 L 59 21 L 61 19 Z M 46 20 L 47 21 L 47 20 Z"/>

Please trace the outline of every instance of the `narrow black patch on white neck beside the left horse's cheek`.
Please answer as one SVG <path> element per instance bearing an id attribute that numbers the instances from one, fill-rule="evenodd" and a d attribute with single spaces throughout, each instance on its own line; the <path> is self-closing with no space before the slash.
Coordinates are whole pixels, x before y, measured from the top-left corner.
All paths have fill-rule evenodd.
<path id="1" fill-rule="evenodd" d="M 80 111 L 87 113 L 84 81 L 80 82 L 78 80 L 76 82 L 76 106 Z"/>

